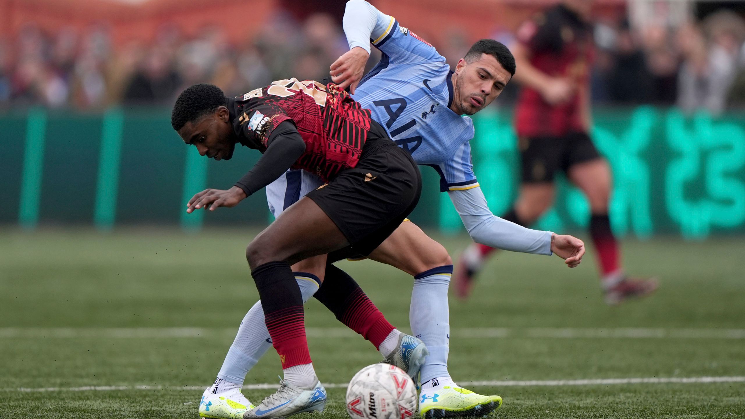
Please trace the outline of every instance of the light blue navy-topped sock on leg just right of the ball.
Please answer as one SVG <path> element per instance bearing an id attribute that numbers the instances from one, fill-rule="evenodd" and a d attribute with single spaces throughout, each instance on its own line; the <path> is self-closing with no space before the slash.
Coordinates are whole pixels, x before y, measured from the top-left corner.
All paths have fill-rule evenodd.
<path id="1" fill-rule="evenodd" d="M 450 377 L 448 286 L 452 273 L 453 265 L 447 265 L 430 269 L 414 277 L 409 323 L 413 335 L 422 339 L 429 350 L 429 355 L 422 365 L 420 382 L 436 377 Z"/>

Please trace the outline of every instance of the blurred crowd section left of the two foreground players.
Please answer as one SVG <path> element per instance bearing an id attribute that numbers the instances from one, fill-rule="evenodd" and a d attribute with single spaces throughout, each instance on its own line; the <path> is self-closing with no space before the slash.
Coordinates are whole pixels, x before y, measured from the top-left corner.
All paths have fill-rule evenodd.
<path id="1" fill-rule="evenodd" d="M 219 27 L 185 39 L 165 25 L 148 45 L 113 48 L 104 26 L 44 34 L 28 25 L 15 43 L 0 40 L 0 107 L 165 105 L 202 82 L 238 95 L 282 78 L 324 78 L 348 49 L 340 25 L 325 14 L 298 23 L 278 13 L 244 45 L 231 45 Z"/>

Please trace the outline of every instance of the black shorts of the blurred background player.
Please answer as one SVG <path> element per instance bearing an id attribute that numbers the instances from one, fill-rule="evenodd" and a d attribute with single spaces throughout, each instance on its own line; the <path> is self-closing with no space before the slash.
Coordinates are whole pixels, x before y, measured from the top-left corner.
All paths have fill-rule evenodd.
<path id="1" fill-rule="evenodd" d="M 553 182 L 557 171 L 600 158 L 587 133 L 533 136 L 519 139 L 522 183 Z"/>

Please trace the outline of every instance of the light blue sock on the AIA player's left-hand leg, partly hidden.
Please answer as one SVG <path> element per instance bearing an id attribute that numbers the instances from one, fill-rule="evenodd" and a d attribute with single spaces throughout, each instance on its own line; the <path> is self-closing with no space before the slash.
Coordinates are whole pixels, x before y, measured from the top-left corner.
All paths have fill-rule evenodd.
<path id="1" fill-rule="evenodd" d="M 303 272 L 294 272 L 294 274 L 297 285 L 300 287 L 302 302 L 305 303 L 318 291 L 320 280 L 314 274 Z M 264 309 L 259 300 L 248 310 L 241 321 L 241 327 L 238 327 L 238 334 L 235 335 L 235 340 L 230 345 L 218 378 L 228 382 L 240 382 L 242 385 L 248 371 L 256 365 L 256 362 L 259 362 L 261 356 L 264 356 L 270 347 L 272 347 L 272 340 L 267 324 L 264 322 Z"/>

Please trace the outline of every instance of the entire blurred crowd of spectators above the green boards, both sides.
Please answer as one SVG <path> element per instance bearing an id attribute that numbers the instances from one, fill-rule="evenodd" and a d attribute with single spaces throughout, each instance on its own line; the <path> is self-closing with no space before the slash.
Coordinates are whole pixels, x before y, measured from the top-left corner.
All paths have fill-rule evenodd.
<path id="1" fill-rule="evenodd" d="M 296 22 L 276 13 L 266 25 L 244 45 L 231 45 L 219 27 L 186 39 L 165 25 L 150 44 L 121 48 L 112 47 L 103 25 L 83 34 L 45 34 L 27 25 L 15 40 L 0 40 L 0 108 L 168 105 L 198 82 L 239 94 L 282 78 L 322 79 L 348 48 L 340 22 L 326 14 Z M 492 37 L 513 42 L 509 31 Z M 454 65 L 470 44 L 457 29 L 445 39 L 438 49 Z M 595 103 L 678 105 L 715 114 L 745 105 L 745 21 L 735 13 L 721 10 L 678 28 L 601 20 L 595 42 Z M 509 103 L 516 90 L 507 89 L 499 102 Z"/>

